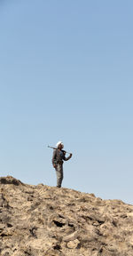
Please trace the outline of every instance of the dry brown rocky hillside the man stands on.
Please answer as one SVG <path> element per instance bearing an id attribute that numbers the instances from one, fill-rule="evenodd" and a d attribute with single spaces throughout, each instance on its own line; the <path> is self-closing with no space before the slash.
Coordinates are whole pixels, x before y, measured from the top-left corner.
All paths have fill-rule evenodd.
<path id="1" fill-rule="evenodd" d="M 0 178 L 1 256 L 133 255 L 133 206 Z"/>

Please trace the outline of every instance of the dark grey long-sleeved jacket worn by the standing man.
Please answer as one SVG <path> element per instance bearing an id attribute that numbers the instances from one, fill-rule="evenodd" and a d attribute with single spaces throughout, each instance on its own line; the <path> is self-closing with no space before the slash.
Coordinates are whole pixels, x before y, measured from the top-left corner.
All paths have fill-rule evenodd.
<path id="1" fill-rule="evenodd" d="M 66 157 L 64 150 L 55 149 L 52 156 L 52 164 L 63 164 L 63 160 L 67 161 L 71 156 Z"/>

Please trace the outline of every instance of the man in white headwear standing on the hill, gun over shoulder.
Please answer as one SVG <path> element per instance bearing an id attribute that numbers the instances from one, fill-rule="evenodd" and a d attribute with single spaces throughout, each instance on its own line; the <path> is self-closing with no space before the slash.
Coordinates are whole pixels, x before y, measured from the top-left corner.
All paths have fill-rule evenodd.
<path id="1" fill-rule="evenodd" d="M 64 145 L 61 141 L 57 143 L 57 149 L 53 151 L 52 156 L 52 165 L 56 170 L 57 174 L 57 187 L 61 187 L 61 183 L 63 180 L 63 160 L 67 161 L 72 157 L 72 154 L 70 156 L 66 157 L 66 151 L 62 150 L 64 148 Z"/>

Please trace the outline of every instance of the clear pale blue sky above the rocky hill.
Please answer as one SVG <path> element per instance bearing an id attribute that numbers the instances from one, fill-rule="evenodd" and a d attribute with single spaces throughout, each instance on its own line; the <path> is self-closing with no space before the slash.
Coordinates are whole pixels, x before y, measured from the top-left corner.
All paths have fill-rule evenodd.
<path id="1" fill-rule="evenodd" d="M 0 175 L 133 204 L 133 1 L 0 0 Z"/>

